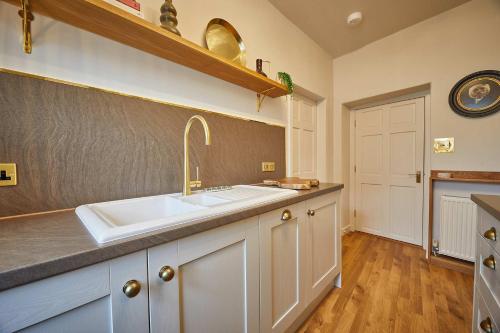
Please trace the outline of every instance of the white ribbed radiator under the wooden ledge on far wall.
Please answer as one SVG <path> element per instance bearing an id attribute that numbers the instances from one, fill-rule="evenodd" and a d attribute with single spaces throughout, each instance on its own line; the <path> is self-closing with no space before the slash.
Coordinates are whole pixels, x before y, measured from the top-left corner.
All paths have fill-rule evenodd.
<path id="1" fill-rule="evenodd" d="M 475 261 L 477 206 L 469 198 L 441 196 L 439 253 Z"/>

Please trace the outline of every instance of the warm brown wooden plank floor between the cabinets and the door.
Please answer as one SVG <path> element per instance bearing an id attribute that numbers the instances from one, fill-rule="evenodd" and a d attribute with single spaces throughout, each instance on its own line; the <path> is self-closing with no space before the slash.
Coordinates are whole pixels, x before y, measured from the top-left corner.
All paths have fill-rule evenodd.
<path id="1" fill-rule="evenodd" d="M 342 288 L 299 332 L 471 331 L 472 276 L 429 265 L 412 245 L 360 232 L 342 242 Z"/>

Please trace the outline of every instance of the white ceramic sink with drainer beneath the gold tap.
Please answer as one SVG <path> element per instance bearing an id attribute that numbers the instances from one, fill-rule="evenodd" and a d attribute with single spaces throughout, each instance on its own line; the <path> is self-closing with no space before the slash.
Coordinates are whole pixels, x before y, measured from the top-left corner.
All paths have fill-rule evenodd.
<path id="1" fill-rule="evenodd" d="M 297 195 L 297 191 L 238 185 L 219 192 L 159 195 L 82 205 L 76 214 L 99 243 L 234 213 Z"/>

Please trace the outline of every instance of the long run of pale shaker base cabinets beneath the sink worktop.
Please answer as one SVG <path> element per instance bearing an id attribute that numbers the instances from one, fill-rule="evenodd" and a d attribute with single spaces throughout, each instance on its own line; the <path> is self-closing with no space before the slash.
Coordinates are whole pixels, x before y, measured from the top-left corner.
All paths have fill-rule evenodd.
<path id="1" fill-rule="evenodd" d="M 0 332 L 285 332 L 340 284 L 340 191 L 0 292 Z"/>

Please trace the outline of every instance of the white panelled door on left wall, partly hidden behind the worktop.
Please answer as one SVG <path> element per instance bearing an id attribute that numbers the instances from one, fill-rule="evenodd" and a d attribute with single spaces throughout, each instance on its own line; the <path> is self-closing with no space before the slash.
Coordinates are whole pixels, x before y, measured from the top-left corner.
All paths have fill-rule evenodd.
<path id="1" fill-rule="evenodd" d="M 316 103 L 295 94 L 289 123 L 288 175 L 316 177 Z"/>

